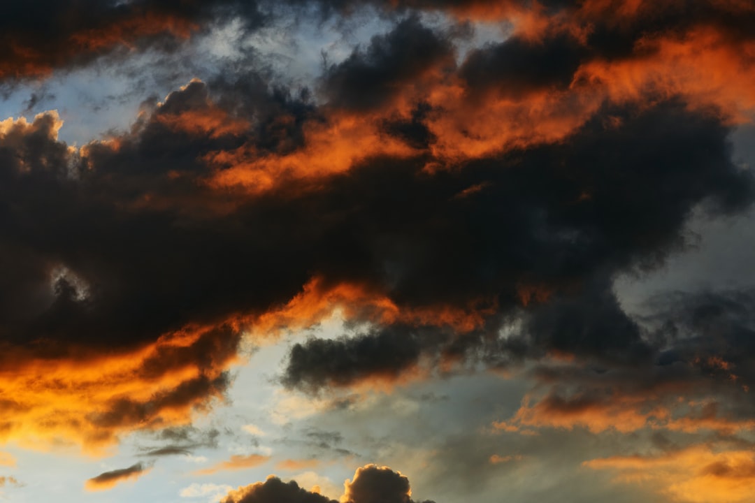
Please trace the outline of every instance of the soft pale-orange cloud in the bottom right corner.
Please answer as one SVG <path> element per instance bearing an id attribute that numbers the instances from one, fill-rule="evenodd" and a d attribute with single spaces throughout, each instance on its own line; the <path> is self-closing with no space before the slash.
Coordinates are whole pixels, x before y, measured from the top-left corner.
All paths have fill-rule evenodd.
<path id="1" fill-rule="evenodd" d="M 583 463 L 610 470 L 618 483 L 654 487 L 671 501 L 744 503 L 755 499 L 755 455 L 751 450 L 692 446 L 662 455 L 630 455 Z"/>

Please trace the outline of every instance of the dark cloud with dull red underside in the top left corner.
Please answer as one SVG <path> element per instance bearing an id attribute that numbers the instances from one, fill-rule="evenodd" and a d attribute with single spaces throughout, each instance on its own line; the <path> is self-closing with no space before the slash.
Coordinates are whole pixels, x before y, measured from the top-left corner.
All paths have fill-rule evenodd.
<path id="1" fill-rule="evenodd" d="M 258 26 L 257 2 L 238 0 L 35 0 L 11 5 L 0 20 L 0 81 L 45 77 L 103 55 L 146 48 L 171 50 L 211 23 L 238 16 Z"/>

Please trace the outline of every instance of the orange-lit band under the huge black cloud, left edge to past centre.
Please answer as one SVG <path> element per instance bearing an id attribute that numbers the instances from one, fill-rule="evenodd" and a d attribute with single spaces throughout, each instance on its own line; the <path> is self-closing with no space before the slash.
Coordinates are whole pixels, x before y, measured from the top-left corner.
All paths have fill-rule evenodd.
<path id="1" fill-rule="evenodd" d="M 48 359 L 8 346 L 0 361 L 0 403 L 5 407 L 0 442 L 32 449 L 78 446 L 88 455 L 103 455 L 122 434 L 186 425 L 223 400 L 223 385 L 213 383 L 238 361 L 242 330 L 248 329 L 245 333 L 257 342 L 273 340 L 336 312 L 346 319 L 449 326 L 459 333 L 479 327 L 484 317 L 474 306 L 402 309 L 364 287 L 325 287 L 314 279 L 280 308 L 232 317 L 218 327 L 186 327 L 123 353 L 72 347 Z M 414 366 L 400 376 L 369 376 L 355 388 L 389 391 L 426 375 L 427 369 Z"/>

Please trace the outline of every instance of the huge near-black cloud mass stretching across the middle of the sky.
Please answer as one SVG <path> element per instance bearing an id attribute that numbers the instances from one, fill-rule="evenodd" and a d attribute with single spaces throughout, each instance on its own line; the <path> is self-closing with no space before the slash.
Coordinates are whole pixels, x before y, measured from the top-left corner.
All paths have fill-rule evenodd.
<path id="1" fill-rule="evenodd" d="M 432 176 L 423 155 L 377 157 L 316 189 L 291 179 L 254 198 L 212 190 L 202 158 L 264 138 L 267 129 L 247 127 L 242 113 L 259 111 L 254 99 L 264 96 L 228 110 L 195 82 L 117 143 L 89 146 L 82 167 L 55 140 L 54 116 L 11 127 L 0 140 L 3 253 L 14 263 L 3 289 L 16 292 L 0 302 L 5 340 L 45 339 L 48 351 L 55 341 L 133 345 L 188 323 L 266 311 L 319 276 L 371 285 L 406 310 L 487 299 L 507 314 L 521 307 L 522 291 L 547 290 L 551 302 L 527 308 L 535 346 L 642 353 L 610 291 L 612 275 L 661 263 L 683 244 L 698 204 L 731 213 L 752 196 L 749 174 L 729 158 L 729 129 L 677 100 L 643 112 L 606 106 L 562 143 Z M 271 117 L 307 109 L 278 103 L 268 106 Z M 456 197 L 470 187 L 483 189 Z M 463 348 L 496 327 L 492 319 L 456 343 Z M 155 361 L 208 358 L 213 366 L 236 351 L 233 330 L 210 330 Z M 431 331 L 395 326 L 353 342 L 299 345 L 290 383 L 306 380 L 307 365 L 353 373 L 344 384 L 407 367 L 450 339 L 422 335 Z M 321 360 L 331 356 L 346 360 Z"/>

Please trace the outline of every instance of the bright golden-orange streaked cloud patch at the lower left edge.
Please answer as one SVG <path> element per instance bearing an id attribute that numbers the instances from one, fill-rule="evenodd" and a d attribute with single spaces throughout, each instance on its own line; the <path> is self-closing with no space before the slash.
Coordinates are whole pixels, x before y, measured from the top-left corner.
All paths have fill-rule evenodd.
<path id="1" fill-rule="evenodd" d="M 67 348 L 51 360 L 6 346 L 0 442 L 102 455 L 120 434 L 186 425 L 223 399 L 214 380 L 236 361 L 237 342 L 214 327 L 188 327 L 123 353 Z"/>

